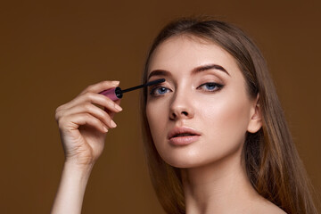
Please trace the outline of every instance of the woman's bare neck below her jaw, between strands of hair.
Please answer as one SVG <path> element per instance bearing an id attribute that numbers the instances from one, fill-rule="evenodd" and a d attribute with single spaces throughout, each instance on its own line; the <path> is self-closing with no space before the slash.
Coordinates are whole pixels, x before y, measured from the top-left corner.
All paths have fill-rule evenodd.
<path id="1" fill-rule="evenodd" d="M 251 186 L 241 152 L 193 169 L 181 169 L 186 214 L 243 213 L 258 193 Z M 233 206 L 232 206 L 233 204 Z"/>

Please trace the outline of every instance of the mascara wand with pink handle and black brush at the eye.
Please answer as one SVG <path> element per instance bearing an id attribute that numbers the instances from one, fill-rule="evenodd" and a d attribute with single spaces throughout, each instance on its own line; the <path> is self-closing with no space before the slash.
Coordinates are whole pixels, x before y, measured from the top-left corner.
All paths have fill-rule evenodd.
<path id="1" fill-rule="evenodd" d="M 130 92 L 130 91 L 133 91 L 133 90 L 136 90 L 136 89 L 139 89 L 142 87 L 146 87 L 146 86 L 160 84 L 162 82 L 165 82 L 165 78 L 156 79 L 154 81 L 147 82 L 146 84 L 143 84 L 140 86 L 129 87 L 125 90 L 121 90 L 120 87 L 113 87 L 111 89 L 104 90 L 104 91 L 100 92 L 99 94 L 102 94 L 102 95 L 105 95 L 105 96 L 111 98 L 112 101 L 116 101 L 116 100 L 119 100 L 123 96 L 123 94 L 126 92 Z"/>

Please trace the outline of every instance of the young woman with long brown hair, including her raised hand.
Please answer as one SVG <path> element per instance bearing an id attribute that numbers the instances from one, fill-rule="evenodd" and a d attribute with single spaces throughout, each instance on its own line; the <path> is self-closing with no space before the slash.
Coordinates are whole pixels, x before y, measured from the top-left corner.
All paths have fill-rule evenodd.
<path id="1" fill-rule="evenodd" d="M 259 49 L 222 21 L 181 19 L 161 30 L 143 82 L 144 147 L 167 213 L 317 213 Z M 52 213 L 80 213 L 90 171 L 121 111 L 103 81 L 57 108 L 66 156 Z M 105 111 L 93 103 L 101 105 Z"/>

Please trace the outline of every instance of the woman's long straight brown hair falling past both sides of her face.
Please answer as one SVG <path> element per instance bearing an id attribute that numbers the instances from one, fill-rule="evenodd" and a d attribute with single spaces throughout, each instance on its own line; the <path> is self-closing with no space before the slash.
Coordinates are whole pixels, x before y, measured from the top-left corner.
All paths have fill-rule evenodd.
<path id="1" fill-rule="evenodd" d="M 169 23 L 153 41 L 144 67 L 143 82 L 152 53 L 169 37 L 200 37 L 220 45 L 238 63 L 251 97 L 259 94 L 263 117 L 257 133 L 247 133 L 243 161 L 254 189 L 287 213 L 317 213 L 310 193 L 309 178 L 292 141 L 276 88 L 259 48 L 241 29 L 224 21 L 208 18 L 183 18 Z M 179 169 L 161 159 L 146 118 L 147 91 L 142 95 L 144 152 L 152 185 L 167 213 L 185 213 L 185 197 Z"/>

